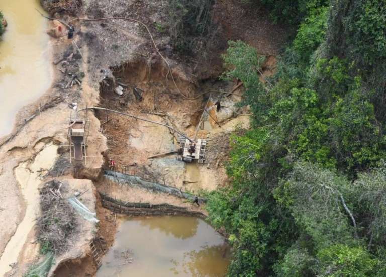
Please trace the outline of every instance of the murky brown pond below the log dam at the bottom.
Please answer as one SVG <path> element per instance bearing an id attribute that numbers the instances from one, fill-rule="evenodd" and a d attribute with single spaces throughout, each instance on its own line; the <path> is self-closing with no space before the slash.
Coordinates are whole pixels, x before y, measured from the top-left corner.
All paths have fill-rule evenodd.
<path id="1" fill-rule="evenodd" d="M 124 219 L 96 276 L 223 277 L 229 255 L 224 239 L 201 219 Z"/>

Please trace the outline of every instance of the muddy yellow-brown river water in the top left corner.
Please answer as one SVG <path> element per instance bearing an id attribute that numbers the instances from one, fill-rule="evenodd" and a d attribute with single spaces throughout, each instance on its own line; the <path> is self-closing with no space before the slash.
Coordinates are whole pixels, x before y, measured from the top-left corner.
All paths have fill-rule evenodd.
<path id="1" fill-rule="evenodd" d="M 8 22 L 0 38 L 0 136 L 12 131 L 15 115 L 50 87 L 47 20 L 39 0 L 0 0 Z"/>

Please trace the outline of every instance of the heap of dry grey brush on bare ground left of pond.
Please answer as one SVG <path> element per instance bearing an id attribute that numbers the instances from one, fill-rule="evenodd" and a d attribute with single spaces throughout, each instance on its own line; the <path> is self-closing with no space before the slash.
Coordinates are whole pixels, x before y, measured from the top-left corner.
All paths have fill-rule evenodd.
<path id="1" fill-rule="evenodd" d="M 69 246 L 69 237 L 76 230 L 74 209 L 63 198 L 63 183 L 53 180 L 40 190 L 41 216 L 38 219 L 38 240 L 42 252 L 60 254 Z"/>

